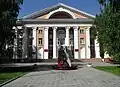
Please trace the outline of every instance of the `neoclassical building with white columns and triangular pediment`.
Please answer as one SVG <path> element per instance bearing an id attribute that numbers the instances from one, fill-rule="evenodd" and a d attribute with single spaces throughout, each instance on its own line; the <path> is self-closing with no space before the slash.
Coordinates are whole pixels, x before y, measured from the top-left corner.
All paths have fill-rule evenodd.
<path id="1" fill-rule="evenodd" d="M 71 50 L 74 59 L 100 58 L 99 43 L 91 37 L 94 19 L 62 3 L 24 16 L 14 27 L 14 58 L 56 59 L 61 44 Z"/>

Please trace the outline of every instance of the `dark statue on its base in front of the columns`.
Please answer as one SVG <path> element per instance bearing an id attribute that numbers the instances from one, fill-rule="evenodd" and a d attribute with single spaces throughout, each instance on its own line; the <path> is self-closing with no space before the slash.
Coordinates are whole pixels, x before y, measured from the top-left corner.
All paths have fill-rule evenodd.
<path id="1" fill-rule="evenodd" d="M 68 49 L 67 46 L 65 46 L 64 38 L 58 38 L 59 39 L 59 49 L 58 49 L 58 66 L 57 69 L 59 70 L 70 70 L 70 69 L 76 69 L 77 66 L 71 64 L 70 58 L 72 57 L 72 53 L 70 49 Z"/>

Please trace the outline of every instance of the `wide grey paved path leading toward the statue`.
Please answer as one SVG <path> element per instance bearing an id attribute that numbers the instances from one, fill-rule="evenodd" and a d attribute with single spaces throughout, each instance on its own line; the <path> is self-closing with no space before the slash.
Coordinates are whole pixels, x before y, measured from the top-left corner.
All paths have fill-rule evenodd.
<path id="1" fill-rule="evenodd" d="M 120 77 L 83 67 L 69 71 L 30 72 L 3 87 L 120 87 Z"/>

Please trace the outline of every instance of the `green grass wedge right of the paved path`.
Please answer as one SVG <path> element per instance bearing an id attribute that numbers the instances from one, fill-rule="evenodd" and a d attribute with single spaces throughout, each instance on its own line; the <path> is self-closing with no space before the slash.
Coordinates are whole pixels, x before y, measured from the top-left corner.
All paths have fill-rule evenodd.
<path id="1" fill-rule="evenodd" d="M 94 68 L 120 76 L 120 67 L 117 66 L 96 66 Z"/>

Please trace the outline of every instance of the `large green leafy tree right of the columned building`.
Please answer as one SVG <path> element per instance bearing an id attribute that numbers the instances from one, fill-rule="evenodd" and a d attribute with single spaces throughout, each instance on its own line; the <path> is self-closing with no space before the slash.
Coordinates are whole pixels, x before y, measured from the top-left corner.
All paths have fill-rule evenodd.
<path id="1" fill-rule="evenodd" d="M 103 51 L 120 63 L 120 0 L 99 1 L 103 9 L 95 19 L 98 42 Z"/>

